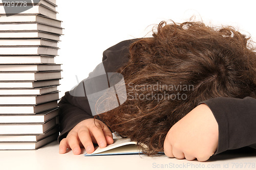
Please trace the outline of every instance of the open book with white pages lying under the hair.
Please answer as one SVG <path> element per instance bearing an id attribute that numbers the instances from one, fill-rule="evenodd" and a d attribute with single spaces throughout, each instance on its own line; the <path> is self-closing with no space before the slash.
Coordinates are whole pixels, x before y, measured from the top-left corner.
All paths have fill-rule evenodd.
<path id="1" fill-rule="evenodd" d="M 84 156 L 143 154 L 136 141 L 131 141 L 130 138 L 115 136 L 115 134 L 113 134 L 113 139 L 113 144 L 107 145 L 105 148 L 96 147 L 93 153 L 84 154 Z M 145 145 L 142 147 L 145 147 Z"/>

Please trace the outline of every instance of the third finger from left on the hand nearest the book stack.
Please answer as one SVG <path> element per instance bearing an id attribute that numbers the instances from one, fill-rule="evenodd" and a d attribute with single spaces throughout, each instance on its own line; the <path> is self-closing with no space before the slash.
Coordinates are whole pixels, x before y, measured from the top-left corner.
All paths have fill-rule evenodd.
<path id="1" fill-rule="evenodd" d="M 88 154 L 93 153 L 94 146 L 93 146 L 93 142 L 92 142 L 92 138 L 91 138 L 89 130 L 87 128 L 80 130 L 78 132 L 78 137 L 79 137 L 83 147 L 86 149 L 86 152 Z"/>

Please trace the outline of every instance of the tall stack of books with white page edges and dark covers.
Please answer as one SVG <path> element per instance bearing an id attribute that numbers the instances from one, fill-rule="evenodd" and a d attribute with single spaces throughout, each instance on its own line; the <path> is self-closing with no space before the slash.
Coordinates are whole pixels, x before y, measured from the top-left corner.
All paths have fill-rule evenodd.
<path id="1" fill-rule="evenodd" d="M 32 1 L 33 2 L 33 1 Z M 16 2 L 17 3 L 17 2 Z M 56 0 L 7 16 L 0 4 L 0 150 L 34 150 L 58 136 Z"/>

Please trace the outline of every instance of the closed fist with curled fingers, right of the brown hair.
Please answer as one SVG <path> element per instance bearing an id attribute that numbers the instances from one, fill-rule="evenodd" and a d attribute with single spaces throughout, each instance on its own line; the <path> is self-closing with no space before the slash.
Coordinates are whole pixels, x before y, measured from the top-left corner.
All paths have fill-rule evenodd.
<path id="1" fill-rule="evenodd" d="M 201 104 L 180 119 L 166 135 L 164 153 L 178 159 L 206 161 L 218 146 L 218 123 L 209 107 Z"/>

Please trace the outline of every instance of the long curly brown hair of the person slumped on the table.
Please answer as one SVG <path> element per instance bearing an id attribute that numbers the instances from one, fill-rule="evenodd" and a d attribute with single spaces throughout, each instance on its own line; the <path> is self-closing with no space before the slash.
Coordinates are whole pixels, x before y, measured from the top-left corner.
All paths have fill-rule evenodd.
<path id="1" fill-rule="evenodd" d="M 200 102 L 256 97 L 253 41 L 232 27 L 162 21 L 153 37 L 132 43 L 118 72 L 128 99 L 99 116 L 112 131 L 146 144 L 147 155 L 162 152 L 169 129 Z"/>

